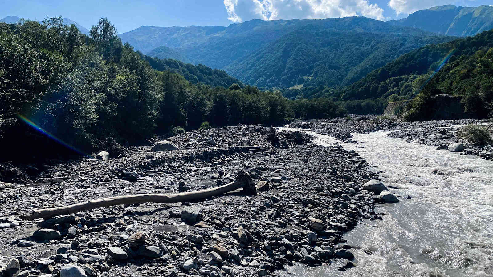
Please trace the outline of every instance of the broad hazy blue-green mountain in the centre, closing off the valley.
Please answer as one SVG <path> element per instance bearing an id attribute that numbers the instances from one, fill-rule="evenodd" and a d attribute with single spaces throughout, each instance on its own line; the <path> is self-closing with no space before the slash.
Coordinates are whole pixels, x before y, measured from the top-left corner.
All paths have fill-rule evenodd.
<path id="1" fill-rule="evenodd" d="M 266 88 L 349 84 L 401 54 L 452 39 L 366 17 L 142 26 L 120 37 L 151 57 L 159 57 L 154 49 L 166 46 L 192 64 L 222 69 L 243 83 Z"/>

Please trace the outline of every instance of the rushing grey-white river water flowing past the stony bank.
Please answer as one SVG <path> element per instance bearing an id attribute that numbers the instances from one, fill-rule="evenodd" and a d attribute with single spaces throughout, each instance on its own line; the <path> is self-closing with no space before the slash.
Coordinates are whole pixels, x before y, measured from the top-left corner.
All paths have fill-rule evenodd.
<path id="1" fill-rule="evenodd" d="M 354 134 L 343 143 L 381 170 L 399 198 L 383 204 L 383 220 L 365 221 L 345 235 L 356 267 L 340 263 L 289 267 L 286 276 L 493 277 L 493 161 L 389 138 Z M 322 144 L 333 144 L 317 135 Z M 332 142 L 332 143 L 331 143 Z M 439 169 L 445 175 L 432 174 Z"/>

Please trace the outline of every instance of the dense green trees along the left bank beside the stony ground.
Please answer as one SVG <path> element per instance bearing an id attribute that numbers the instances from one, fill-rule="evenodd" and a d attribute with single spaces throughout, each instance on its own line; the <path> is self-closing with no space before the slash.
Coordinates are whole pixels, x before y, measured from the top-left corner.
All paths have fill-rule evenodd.
<path id="1" fill-rule="evenodd" d="M 231 78 L 206 67 L 190 68 L 199 80 L 190 82 L 175 73 L 183 69 L 153 60 L 165 70 L 158 71 L 148 60 L 122 44 L 106 18 L 89 36 L 64 25 L 61 17 L 1 23 L 0 143 L 12 149 L 3 158 L 60 154 L 46 134 L 87 152 L 110 139 L 134 143 L 175 127 L 197 129 L 206 121 L 274 125 L 292 117 L 345 114 L 327 99 L 291 101 L 278 91 L 237 83 L 214 86 Z"/>

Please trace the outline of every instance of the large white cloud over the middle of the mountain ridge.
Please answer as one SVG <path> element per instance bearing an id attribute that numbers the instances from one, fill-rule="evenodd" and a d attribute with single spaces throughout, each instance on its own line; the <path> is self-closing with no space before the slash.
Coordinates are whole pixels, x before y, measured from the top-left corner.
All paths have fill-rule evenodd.
<path id="1" fill-rule="evenodd" d="M 250 19 L 322 19 L 366 16 L 385 20 L 384 10 L 368 0 L 224 0 L 228 19 L 238 23 Z"/>

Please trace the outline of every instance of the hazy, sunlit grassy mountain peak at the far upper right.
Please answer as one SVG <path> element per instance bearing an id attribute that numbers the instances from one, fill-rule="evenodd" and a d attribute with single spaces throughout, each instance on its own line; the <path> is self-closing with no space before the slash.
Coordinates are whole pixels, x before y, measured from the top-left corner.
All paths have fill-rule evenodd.
<path id="1" fill-rule="evenodd" d="M 471 36 L 493 29 L 493 6 L 444 5 L 419 10 L 407 18 L 387 22 L 441 35 Z"/>

